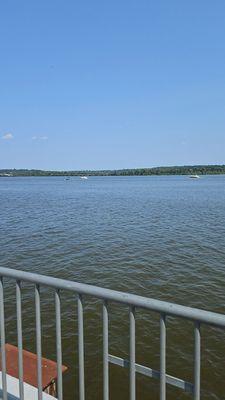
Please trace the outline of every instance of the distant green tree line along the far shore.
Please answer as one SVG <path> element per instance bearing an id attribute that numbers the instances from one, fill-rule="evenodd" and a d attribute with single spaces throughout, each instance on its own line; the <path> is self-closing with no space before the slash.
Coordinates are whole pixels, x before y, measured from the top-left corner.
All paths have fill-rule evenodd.
<path id="1" fill-rule="evenodd" d="M 147 176 L 147 175 L 218 175 L 225 165 L 187 165 L 99 171 L 44 171 L 38 169 L 0 169 L 0 176 Z"/>

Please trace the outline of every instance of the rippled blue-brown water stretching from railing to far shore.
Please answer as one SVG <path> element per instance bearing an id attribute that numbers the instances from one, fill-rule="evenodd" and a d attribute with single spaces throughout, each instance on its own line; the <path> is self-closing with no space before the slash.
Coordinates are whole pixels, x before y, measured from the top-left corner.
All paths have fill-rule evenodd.
<path id="1" fill-rule="evenodd" d="M 0 179 L 0 264 L 225 312 L 225 176 Z M 15 288 L 6 285 L 16 344 Z M 54 293 L 42 290 L 43 354 L 55 359 Z M 24 346 L 35 351 L 34 292 L 23 289 Z M 62 293 L 65 398 L 77 398 L 76 298 Z M 101 304 L 85 299 L 87 399 L 101 398 Z M 168 320 L 167 371 L 192 380 L 193 326 Z M 225 398 L 225 333 L 202 330 L 202 399 Z M 110 352 L 127 357 L 128 309 L 110 306 Z M 137 311 L 137 362 L 159 367 L 159 318 Z M 112 366 L 111 399 L 128 398 Z M 159 382 L 137 376 L 137 399 Z M 190 395 L 168 387 L 168 399 Z"/>

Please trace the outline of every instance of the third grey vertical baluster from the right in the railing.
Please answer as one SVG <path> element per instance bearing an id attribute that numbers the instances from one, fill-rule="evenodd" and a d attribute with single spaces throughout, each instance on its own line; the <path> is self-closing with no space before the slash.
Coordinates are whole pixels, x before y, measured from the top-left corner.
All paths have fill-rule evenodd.
<path id="1" fill-rule="evenodd" d="M 130 319 L 130 400 L 136 398 L 136 375 L 135 375 L 135 307 L 131 306 Z"/>

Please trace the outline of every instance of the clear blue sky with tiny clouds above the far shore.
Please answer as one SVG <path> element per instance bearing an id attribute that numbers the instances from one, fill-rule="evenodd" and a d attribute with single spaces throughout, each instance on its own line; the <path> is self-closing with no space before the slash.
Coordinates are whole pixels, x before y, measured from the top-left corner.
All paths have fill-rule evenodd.
<path id="1" fill-rule="evenodd" d="M 225 2 L 7 0 L 0 168 L 225 163 Z"/>

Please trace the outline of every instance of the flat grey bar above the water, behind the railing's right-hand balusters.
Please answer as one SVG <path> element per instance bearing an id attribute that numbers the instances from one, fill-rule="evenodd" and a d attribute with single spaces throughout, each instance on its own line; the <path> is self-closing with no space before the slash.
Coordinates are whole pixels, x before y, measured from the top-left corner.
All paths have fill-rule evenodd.
<path id="1" fill-rule="evenodd" d="M 129 368 L 129 361 L 124 360 L 123 358 L 113 356 L 109 354 L 109 362 L 114 365 L 118 365 L 120 367 L 124 368 Z M 150 378 L 155 378 L 155 379 L 160 379 L 160 372 L 156 371 L 152 368 L 145 367 L 144 365 L 140 365 L 135 363 L 135 369 L 136 372 L 145 376 L 148 376 Z M 194 392 L 194 385 L 190 382 L 186 382 L 183 379 L 176 378 L 174 376 L 166 374 L 166 383 L 168 385 L 175 386 L 179 389 L 184 390 L 187 393 L 192 393 Z"/>

